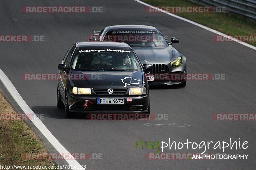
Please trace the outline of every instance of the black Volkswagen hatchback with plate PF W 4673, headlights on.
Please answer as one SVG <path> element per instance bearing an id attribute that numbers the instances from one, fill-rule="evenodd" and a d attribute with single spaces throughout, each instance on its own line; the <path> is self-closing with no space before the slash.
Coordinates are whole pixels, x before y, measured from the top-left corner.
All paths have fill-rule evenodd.
<path id="1" fill-rule="evenodd" d="M 58 65 L 68 76 L 58 80 L 57 107 L 65 108 L 66 117 L 71 112 L 149 113 L 143 68 L 126 43 L 76 42 Z"/>

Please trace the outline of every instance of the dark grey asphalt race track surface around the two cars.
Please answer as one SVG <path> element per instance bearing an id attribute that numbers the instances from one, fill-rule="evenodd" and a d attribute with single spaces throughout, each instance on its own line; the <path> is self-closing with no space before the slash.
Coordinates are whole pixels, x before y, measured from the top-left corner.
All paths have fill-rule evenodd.
<path id="1" fill-rule="evenodd" d="M 1 42 L 0 68 L 28 106 L 44 114 L 43 123 L 70 152 L 102 153 L 103 159 L 78 160 L 86 169 L 254 169 L 255 121 L 216 121 L 214 113 L 255 113 L 256 51 L 238 43 L 213 42 L 215 34 L 166 14 L 148 14 L 135 1 L 0 1 L 1 35 L 44 35 L 45 42 Z M 104 13 L 22 13 L 22 6 L 103 6 Z M 168 120 L 92 121 L 65 118 L 56 107 L 57 81 L 24 81 L 23 73 L 57 73 L 66 51 L 75 41 L 86 41 L 93 31 L 108 25 L 156 26 L 187 57 L 188 73 L 225 74 L 225 80 L 191 80 L 183 89 L 152 88 L 151 112 L 168 114 Z M 154 124 L 188 124 L 186 127 L 154 127 Z M 156 150 L 135 149 L 135 141 L 248 141 L 245 150 L 226 149 L 227 154 L 249 154 L 238 160 L 147 160 Z M 44 139 L 45 141 L 45 139 Z M 51 147 L 47 145 L 51 151 Z M 198 153 L 185 147 L 164 152 Z M 208 153 L 222 153 L 212 147 Z M 63 163 L 57 160 L 58 164 Z"/>

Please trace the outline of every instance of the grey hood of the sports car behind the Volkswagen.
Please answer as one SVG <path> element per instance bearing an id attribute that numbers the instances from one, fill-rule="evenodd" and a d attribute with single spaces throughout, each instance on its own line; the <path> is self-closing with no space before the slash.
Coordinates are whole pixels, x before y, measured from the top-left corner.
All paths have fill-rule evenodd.
<path id="1" fill-rule="evenodd" d="M 141 63 L 169 63 L 172 61 L 172 48 L 132 47 Z M 146 61 L 145 61 L 146 60 Z"/>

